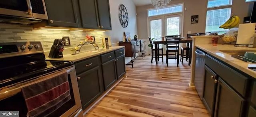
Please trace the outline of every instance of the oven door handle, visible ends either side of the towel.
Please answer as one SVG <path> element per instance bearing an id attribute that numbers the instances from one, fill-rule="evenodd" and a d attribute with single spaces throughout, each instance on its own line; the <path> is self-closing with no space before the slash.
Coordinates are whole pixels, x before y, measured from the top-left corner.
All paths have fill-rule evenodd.
<path id="1" fill-rule="evenodd" d="M 74 70 L 75 70 L 75 67 L 72 67 L 72 68 L 66 70 L 66 72 L 69 74 L 70 72 L 72 72 Z M 12 89 L 10 88 L 10 89 L 8 89 L 8 91 L 0 92 L 0 101 L 3 99 L 6 99 L 8 97 L 12 97 L 13 95 L 16 95 L 19 92 L 21 92 L 20 86 L 13 87 Z"/>

